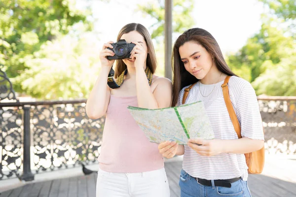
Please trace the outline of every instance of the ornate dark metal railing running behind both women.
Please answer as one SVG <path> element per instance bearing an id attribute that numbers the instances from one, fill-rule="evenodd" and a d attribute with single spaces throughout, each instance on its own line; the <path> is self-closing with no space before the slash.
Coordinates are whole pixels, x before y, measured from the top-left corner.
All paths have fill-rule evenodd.
<path id="1" fill-rule="evenodd" d="M 89 119 L 86 99 L 19 102 L 1 70 L 0 90 L 0 180 L 97 162 L 105 118 Z M 296 154 L 296 97 L 258 100 L 266 153 Z"/>

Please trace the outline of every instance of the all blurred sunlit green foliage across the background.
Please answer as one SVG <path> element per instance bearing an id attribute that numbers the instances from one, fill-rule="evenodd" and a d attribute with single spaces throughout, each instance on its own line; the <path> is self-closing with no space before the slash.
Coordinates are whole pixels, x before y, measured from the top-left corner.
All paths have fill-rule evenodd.
<path id="1" fill-rule="evenodd" d="M 267 10 L 261 29 L 225 59 L 258 95 L 296 96 L 296 0 L 259 1 Z M 75 5 L 76 0 L 0 0 L 0 64 L 19 94 L 87 98 L 99 72 L 101 45 L 90 6 Z M 194 1 L 174 0 L 173 6 L 174 34 L 194 27 Z M 159 54 L 157 74 L 163 76 L 164 0 L 134 11 L 155 21 L 148 30 Z"/>

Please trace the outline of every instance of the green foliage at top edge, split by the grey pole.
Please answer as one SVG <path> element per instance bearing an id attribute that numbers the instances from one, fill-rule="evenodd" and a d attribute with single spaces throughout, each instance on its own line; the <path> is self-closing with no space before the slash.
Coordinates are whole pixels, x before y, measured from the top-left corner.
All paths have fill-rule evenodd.
<path id="1" fill-rule="evenodd" d="M 193 26 L 194 20 L 190 16 L 193 9 L 193 0 L 173 0 L 173 32 L 183 33 L 185 30 Z M 158 38 L 164 35 L 165 23 L 165 4 L 164 0 L 158 0 L 156 3 L 148 2 L 145 5 L 138 5 L 138 10 L 154 19 L 155 23 L 151 26 L 153 32 L 152 38 Z"/>

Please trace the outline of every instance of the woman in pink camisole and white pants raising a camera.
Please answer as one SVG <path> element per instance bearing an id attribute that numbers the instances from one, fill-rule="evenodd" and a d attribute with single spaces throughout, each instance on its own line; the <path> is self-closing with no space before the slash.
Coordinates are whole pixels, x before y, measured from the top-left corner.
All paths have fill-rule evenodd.
<path id="1" fill-rule="evenodd" d="M 111 57 L 115 53 L 120 55 L 128 47 L 116 49 L 113 47 L 116 43 L 110 41 L 103 45 L 101 73 L 86 103 L 90 118 L 97 119 L 106 114 L 97 197 L 169 197 L 168 180 L 158 144 L 149 142 L 127 107 L 169 107 L 172 83 L 167 78 L 152 75 L 156 69 L 156 56 L 151 37 L 143 25 L 127 24 L 118 33 L 117 42 L 122 39 L 135 46 L 130 58 L 116 60 L 116 84 L 108 79 L 114 63 Z M 111 87 L 120 87 L 111 89 L 107 83 Z"/>

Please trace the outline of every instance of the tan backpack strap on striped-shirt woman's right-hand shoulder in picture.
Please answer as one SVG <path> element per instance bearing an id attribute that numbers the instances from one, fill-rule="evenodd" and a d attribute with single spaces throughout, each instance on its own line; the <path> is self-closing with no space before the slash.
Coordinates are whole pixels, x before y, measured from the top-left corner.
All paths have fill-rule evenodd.
<path id="1" fill-rule="evenodd" d="M 225 104 L 226 104 L 226 107 L 227 107 L 227 110 L 228 110 L 228 114 L 230 116 L 230 119 L 231 119 L 232 125 L 234 127 L 234 130 L 235 130 L 238 138 L 242 138 L 241 128 L 240 128 L 237 116 L 235 114 L 235 111 L 233 109 L 233 106 L 232 106 L 232 103 L 231 103 L 231 100 L 230 100 L 230 97 L 229 97 L 228 81 L 229 81 L 230 77 L 231 76 L 227 76 L 225 78 L 224 83 L 221 85 L 221 87 L 222 87 L 222 91 L 223 91 L 223 97 L 224 97 L 224 100 L 225 100 Z"/>

